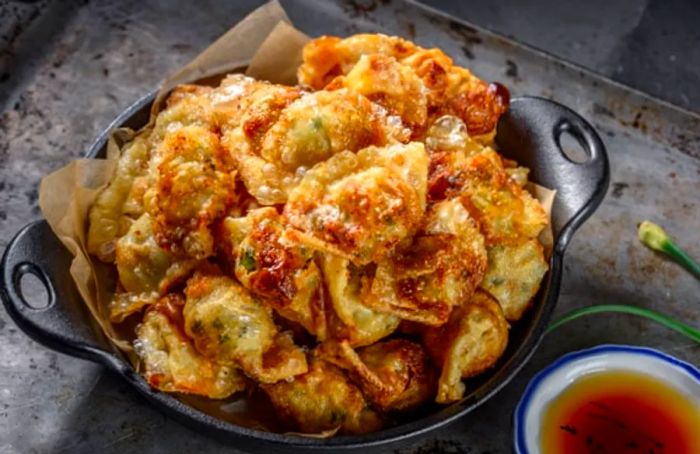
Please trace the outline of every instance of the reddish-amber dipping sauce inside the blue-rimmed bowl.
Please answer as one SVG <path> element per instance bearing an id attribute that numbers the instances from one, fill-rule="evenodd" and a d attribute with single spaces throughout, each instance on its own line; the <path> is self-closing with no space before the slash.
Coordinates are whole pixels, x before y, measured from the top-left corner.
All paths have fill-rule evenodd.
<path id="1" fill-rule="evenodd" d="M 543 454 L 697 454 L 698 396 L 636 372 L 586 375 L 545 408 L 540 444 Z"/>

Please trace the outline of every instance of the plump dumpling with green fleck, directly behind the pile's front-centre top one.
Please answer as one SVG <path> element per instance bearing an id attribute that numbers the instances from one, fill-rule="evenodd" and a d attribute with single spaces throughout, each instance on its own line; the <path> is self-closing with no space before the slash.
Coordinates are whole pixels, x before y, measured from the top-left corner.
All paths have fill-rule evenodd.
<path id="1" fill-rule="evenodd" d="M 286 102 L 270 105 L 276 97 Z M 408 138 L 400 121 L 393 125 L 378 106 L 346 90 L 296 98 L 272 93 L 246 115 L 252 117 L 244 116 L 241 128 L 225 135 L 224 145 L 238 160 L 248 191 L 263 205 L 284 203 L 306 169 L 335 153 Z"/>

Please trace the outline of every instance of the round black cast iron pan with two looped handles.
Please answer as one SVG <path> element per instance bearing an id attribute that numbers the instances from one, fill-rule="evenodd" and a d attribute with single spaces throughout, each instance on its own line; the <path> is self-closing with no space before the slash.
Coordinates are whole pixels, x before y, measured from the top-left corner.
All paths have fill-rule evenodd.
<path id="1" fill-rule="evenodd" d="M 153 94 L 148 95 L 123 112 L 97 139 L 87 157 L 104 157 L 107 137 L 113 128 L 136 129 L 144 125 L 153 97 Z M 562 152 L 560 137 L 565 132 L 579 142 L 588 155 L 587 161 L 576 163 Z M 462 401 L 436 407 L 411 422 L 380 432 L 327 439 L 262 432 L 216 419 L 175 397 L 151 389 L 130 363 L 92 328 L 94 323 L 69 274 L 72 256 L 45 221 L 29 224 L 8 245 L 0 266 L 0 295 L 17 325 L 37 342 L 103 364 L 173 418 L 236 447 L 288 452 L 398 444 L 472 411 L 523 367 L 540 342 L 556 304 L 564 251 L 576 229 L 593 213 L 607 192 L 609 169 L 603 142 L 589 123 L 560 104 L 533 97 L 514 99 L 498 125 L 496 140 L 507 157 L 531 169 L 532 181 L 557 190 L 552 210 L 554 248 L 549 272 L 533 307 L 511 329 L 508 349 L 497 366 L 470 381 L 468 389 L 472 391 Z M 20 279 L 26 273 L 34 274 L 46 286 L 47 307 L 35 309 L 24 300 Z"/>

